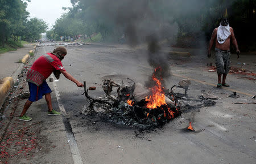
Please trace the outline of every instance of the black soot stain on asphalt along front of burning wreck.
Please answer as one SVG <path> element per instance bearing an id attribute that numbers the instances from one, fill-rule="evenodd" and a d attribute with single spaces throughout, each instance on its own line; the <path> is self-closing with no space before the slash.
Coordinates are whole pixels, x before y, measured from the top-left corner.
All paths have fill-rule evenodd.
<path id="1" fill-rule="evenodd" d="M 185 109 L 184 109 L 185 110 Z M 197 109 L 196 109 L 197 110 Z M 198 112 L 195 109 L 189 109 L 188 112 L 183 114 L 183 118 L 175 118 L 171 120 L 171 124 L 175 124 L 175 127 L 172 127 L 174 131 L 180 130 L 181 133 L 188 133 L 187 127 L 184 127 L 184 118 L 185 120 L 188 120 L 191 117 L 192 112 Z M 92 113 L 92 114 L 87 114 L 84 115 L 80 111 L 72 111 L 69 113 L 69 120 L 73 120 L 71 122 L 73 128 L 77 128 L 78 131 L 74 132 L 75 134 L 77 133 L 82 133 L 85 131 L 89 131 L 91 133 L 112 133 L 112 132 L 123 132 L 123 131 L 128 131 L 131 135 L 127 137 L 131 138 L 144 138 L 147 135 L 154 135 L 154 134 L 159 134 L 164 132 L 166 130 L 166 125 L 158 128 L 154 128 L 151 130 L 140 130 L 137 127 L 130 127 L 126 126 L 125 124 L 116 124 L 116 123 L 111 123 L 108 120 L 108 116 L 104 113 Z M 187 122 L 187 121 L 185 121 Z M 84 130 L 81 130 L 81 127 L 84 128 Z M 167 126 L 170 127 L 170 126 Z M 180 127 L 180 128 L 179 128 Z M 199 133 L 201 130 L 194 131 L 193 133 Z"/>

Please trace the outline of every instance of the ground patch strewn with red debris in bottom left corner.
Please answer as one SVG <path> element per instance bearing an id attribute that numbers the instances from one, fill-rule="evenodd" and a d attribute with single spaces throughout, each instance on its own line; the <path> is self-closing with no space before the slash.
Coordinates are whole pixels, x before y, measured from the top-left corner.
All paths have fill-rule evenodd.
<path id="1" fill-rule="evenodd" d="M 10 124 L 0 143 L 1 162 L 28 162 L 49 146 L 47 137 L 40 135 L 40 122 L 20 123 L 18 119 Z M 43 145 L 43 146 L 42 146 Z M 48 146 L 47 146 L 48 145 Z"/>

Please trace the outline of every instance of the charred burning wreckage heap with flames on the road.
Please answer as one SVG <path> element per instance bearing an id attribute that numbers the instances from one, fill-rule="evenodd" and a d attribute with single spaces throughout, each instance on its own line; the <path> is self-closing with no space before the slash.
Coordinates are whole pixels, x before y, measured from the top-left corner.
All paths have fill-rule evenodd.
<path id="1" fill-rule="evenodd" d="M 156 70 L 155 70 L 156 72 Z M 190 104 L 192 100 L 187 98 L 188 84 L 190 81 L 183 81 L 180 88 L 185 89 L 184 94 L 174 93 L 176 85 L 170 92 L 164 92 L 161 81 L 152 75 L 155 85 L 152 88 L 146 88 L 141 83 L 135 83 L 134 80 L 127 78 L 122 80 L 121 84 L 117 84 L 111 79 L 102 80 L 102 89 L 106 93 L 105 96 L 94 98 L 89 96 L 88 91 L 95 88 L 84 89 L 86 100 L 89 105 L 82 111 L 84 114 L 96 114 L 107 122 L 118 125 L 125 125 L 138 128 L 139 130 L 153 130 L 162 127 L 170 120 L 181 114 L 182 109 L 194 107 Z M 189 82 L 189 83 L 188 83 Z M 184 86 L 185 84 L 185 86 Z M 117 93 L 112 95 L 113 87 L 117 88 Z M 205 99 L 196 100 L 195 107 L 206 106 Z"/>

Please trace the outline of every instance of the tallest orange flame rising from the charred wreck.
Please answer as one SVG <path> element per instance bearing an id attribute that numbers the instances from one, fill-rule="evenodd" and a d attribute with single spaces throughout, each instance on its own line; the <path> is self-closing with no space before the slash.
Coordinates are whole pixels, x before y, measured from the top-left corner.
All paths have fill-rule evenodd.
<path id="1" fill-rule="evenodd" d="M 147 108 L 150 109 L 155 109 L 158 106 L 161 105 L 167 105 L 166 104 L 166 98 L 164 97 L 164 92 L 162 89 L 162 84 L 160 82 L 160 80 L 158 80 L 155 77 L 155 74 L 152 75 L 152 79 L 156 82 L 156 85 L 151 89 L 152 92 L 152 96 L 150 95 L 149 97 L 146 97 L 145 101 L 148 101 L 147 103 Z"/>

